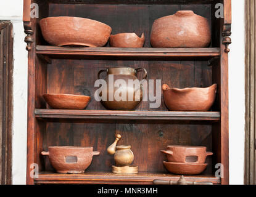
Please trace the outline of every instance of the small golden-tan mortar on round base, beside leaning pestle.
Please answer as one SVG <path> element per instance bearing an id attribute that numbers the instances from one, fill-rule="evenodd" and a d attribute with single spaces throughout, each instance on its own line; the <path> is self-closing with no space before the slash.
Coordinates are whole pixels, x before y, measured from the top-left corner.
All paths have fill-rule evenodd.
<path id="1" fill-rule="evenodd" d="M 117 146 L 114 159 L 116 166 L 130 166 L 134 160 L 131 146 Z"/>

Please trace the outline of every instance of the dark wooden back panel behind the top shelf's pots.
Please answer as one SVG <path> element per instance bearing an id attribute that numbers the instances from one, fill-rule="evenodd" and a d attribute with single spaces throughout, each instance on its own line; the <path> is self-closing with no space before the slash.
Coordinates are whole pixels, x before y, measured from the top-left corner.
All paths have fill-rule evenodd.
<path id="1" fill-rule="evenodd" d="M 151 47 L 151 27 L 155 19 L 175 14 L 178 10 L 193 10 L 209 19 L 211 5 L 110 5 L 110 4 L 50 4 L 49 16 L 83 17 L 98 20 L 112 27 L 112 34 L 134 32 L 146 36 L 144 47 Z"/>

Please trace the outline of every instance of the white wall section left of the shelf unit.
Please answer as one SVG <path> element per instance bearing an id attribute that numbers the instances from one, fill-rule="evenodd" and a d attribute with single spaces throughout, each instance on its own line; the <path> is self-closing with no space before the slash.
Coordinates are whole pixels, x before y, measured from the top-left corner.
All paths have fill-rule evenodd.
<path id="1" fill-rule="evenodd" d="M 26 183 L 28 58 L 22 22 L 23 1 L 1 1 L 0 20 L 14 26 L 14 116 L 12 124 L 12 183 Z"/>

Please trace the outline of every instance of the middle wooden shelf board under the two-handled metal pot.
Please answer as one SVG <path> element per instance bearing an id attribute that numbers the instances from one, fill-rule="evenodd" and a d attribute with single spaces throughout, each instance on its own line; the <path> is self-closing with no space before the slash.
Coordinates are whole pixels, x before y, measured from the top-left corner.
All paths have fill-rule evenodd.
<path id="1" fill-rule="evenodd" d="M 36 118 L 219 121 L 220 112 L 36 109 Z"/>

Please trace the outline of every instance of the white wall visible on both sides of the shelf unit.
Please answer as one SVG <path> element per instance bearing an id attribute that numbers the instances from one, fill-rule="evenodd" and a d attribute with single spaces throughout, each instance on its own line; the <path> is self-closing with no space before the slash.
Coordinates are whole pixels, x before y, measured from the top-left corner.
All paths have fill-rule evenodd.
<path id="1" fill-rule="evenodd" d="M 0 20 L 14 24 L 14 123 L 12 180 L 25 184 L 27 159 L 27 51 L 22 0 L 0 2 Z M 244 183 L 244 1 L 233 1 L 229 53 L 229 172 L 231 184 Z"/>

